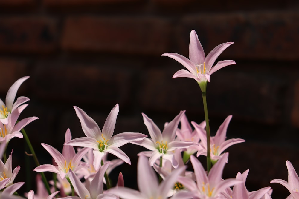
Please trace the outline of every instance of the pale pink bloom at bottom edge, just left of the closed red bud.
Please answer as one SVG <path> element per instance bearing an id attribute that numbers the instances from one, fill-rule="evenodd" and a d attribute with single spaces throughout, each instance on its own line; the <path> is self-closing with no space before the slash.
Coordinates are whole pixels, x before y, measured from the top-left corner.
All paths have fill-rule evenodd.
<path id="1" fill-rule="evenodd" d="M 103 193 L 103 178 L 109 163 L 103 164 L 97 171 L 92 181 L 86 181 L 86 186 L 80 179 L 70 171 L 69 178 L 74 186 L 75 192 L 78 196 L 67 196 L 64 199 L 104 199 L 104 198 L 117 198 L 112 194 Z"/>

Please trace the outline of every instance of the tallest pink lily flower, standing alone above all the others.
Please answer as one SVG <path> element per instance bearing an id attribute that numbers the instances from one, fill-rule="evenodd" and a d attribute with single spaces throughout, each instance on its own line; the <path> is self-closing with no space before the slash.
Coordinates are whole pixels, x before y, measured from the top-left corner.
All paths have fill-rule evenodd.
<path id="1" fill-rule="evenodd" d="M 164 53 L 162 56 L 168 56 L 181 63 L 187 70 L 181 69 L 177 71 L 172 78 L 188 77 L 195 79 L 202 92 L 206 91 L 207 81 L 210 81 L 210 75 L 217 70 L 236 64 L 233 60 L 219 61 L 214 67 L 213 64 L 218 56 L 234 42 L 226 42 L 216 46 L 208 55 L 205 56 L 205 52 L 202 48 L 202 44 L 199 42 L 198 36 L 195 30 L 191 30 L 190 43 L 189 43 L 189 58 L 186 58 L 177 53 Z"/>

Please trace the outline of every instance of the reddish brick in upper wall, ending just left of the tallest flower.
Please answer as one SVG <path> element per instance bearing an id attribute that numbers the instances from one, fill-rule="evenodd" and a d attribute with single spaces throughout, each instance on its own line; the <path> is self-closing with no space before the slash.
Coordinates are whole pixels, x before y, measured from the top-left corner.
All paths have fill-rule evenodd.
<path id="1" fill-rule="evenodd" d="M 102 51 L 160 56 L 170 43 L 170 25 L 157 18 L 69 17 L 62 47 L 75 51 Z"/>

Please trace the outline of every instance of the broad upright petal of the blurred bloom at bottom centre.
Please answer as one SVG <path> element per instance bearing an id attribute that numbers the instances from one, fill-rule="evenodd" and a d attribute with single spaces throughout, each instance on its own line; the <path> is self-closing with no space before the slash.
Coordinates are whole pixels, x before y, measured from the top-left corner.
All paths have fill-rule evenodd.
<path id="1" fill-rule="evenodd" d="M 147 198 L 152 197 L 157 192 L 158 178 L 153 168 L 149 166 L 148 159 L 143 155 L 138 158 L 137 183 L 139 191 L 144 193 Z"/>

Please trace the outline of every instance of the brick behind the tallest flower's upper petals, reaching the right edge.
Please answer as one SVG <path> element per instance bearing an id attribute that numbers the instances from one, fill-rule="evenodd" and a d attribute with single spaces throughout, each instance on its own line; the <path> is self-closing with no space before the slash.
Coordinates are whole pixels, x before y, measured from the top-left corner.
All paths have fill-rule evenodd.
<path id="1" fill-rule="evenodd" d="M 177 41 L 187 54 L 190 30 L 195 29 L 206 53 L 234 41 L 223 55 L 230 59 L 288 59 L 299 57 L 299 13 L 252 12 L 188 16 L 179 23 Z"/>

